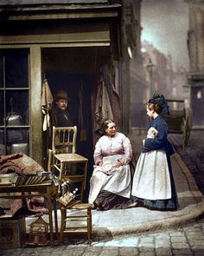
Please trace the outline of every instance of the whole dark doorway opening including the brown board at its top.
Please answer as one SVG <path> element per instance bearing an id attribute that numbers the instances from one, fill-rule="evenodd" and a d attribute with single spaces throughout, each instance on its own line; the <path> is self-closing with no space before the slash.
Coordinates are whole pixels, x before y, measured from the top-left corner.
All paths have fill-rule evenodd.
<path id="1" fill-rule="evenodd" d="M 71 101 L 68 103 L 73 124 L 78 128 L 77 153 L 88 158 L 88 172 L 84 200 L 89 192 L 89 180 L 93 168 L 93 116 L 94 95 L 97 89 L 99 69 L 110 64 L 110 52 L 107 47 L 59 48 L 42 50 L 42 72 L 48 80 L 54 95 L 63 89 Z M 82 95 L 82 97 L 81 97 Z M 83 116 L 83 132 L 81 115 Z M 48 141 L 44 138 L 44 153 L 47 154 Z M 45 155 L 46 157 L 46 155 Z"/>

